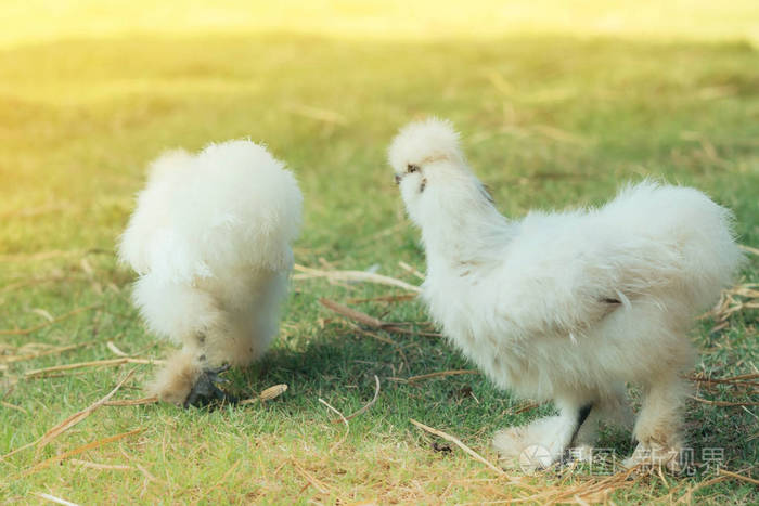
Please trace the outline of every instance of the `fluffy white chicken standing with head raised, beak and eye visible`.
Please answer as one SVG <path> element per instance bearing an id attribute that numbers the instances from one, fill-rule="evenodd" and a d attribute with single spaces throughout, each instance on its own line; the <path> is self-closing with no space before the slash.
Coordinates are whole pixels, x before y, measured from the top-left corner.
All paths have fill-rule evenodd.
<path id="1" fill-rule="evenodd" d="M 497 386 L 558 408 L 496 434 L 504 465 L 545 467 L 569 447 L 587 457 L 599 420 L 629 419 L 629 381 L 644 397 L 628 465 L 677 468 L 687 332 L 741 261 L 731 212 L 697 190 L 643 182 L 597 209 L 509 220 L 449 122 L 408 125 L 388 155 L 422 231 L 432 316 Z"/>

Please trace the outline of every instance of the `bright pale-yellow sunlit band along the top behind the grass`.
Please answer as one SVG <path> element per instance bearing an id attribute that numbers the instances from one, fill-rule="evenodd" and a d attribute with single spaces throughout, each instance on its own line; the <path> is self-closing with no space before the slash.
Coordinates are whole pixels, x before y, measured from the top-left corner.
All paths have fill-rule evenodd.
<path id="1" fill-rule="evenodd" d="M 751 0 L 29 0 L 3 2 L 8 44 L 119 35 L 298 33 L 345 38 L 492 38 L 563 34 L 759 40 Z"/>

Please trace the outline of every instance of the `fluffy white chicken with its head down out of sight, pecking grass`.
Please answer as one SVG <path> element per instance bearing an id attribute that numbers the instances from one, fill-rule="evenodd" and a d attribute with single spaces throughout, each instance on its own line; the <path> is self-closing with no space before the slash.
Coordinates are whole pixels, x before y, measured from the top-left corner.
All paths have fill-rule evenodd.
<path id="1" fill-rule="evenodd" d="M 149 328 L 182 346 L 149 385 L 183 405 L 233 400 L 216 385 L 269 347 L 293 267 L 303 197 L 293 174 L 249 141 L 164 154 L 121 236 Z"/>

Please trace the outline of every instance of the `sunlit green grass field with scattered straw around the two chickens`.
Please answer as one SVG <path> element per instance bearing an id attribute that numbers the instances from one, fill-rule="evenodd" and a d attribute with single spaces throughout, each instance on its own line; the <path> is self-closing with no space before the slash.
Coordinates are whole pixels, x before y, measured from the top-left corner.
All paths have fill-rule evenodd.
<path id="1" fill-rule="evenodd" d="M 129 300 L 133 274 L 114 258 L 144 167 L 168 147 L 266 142 L 305 194 L 296 261 L 318 269 L 420 282 L 399 265 L 424 271 L 424 256 L 385 150 L 398 127 L 428 114 L 461 129 L 507 215 L 597 204 L 651 176 L 732 208 L 741 243 L 759 247 L 759 11 L 738 0 L 618 3 L 599 14 L 599 2 L 581 2 L 567 14 L 558 1 L 512 2 L 490 17 L 492 2 L 467 2 L 476 15 L 466 17 L 422 2 L 412 18 L 423 20 L 424 7 L 434 15 L 419 30 L 396 2 L 387 11 L 314 2 L 310 14 L 286 4 L 261 16 L 242 15 L 240 1 L 213 12 L 193 3 L 185 16 L 172 15 L 180 2 L 162 2 L 153 17 L 142 0 L 113 11 L 90 1 L 0 7 L 9 26 L 0 38 L 0 454 L 37 441 L 129 371 L 114 399 L 143 397 L 150 364 L 29 373 L 118 359 L 108 342 L 138 359 L 169 349 L 143 328 Z M 741 285 L 759 283 L 759 257 L 748 258 Z M 686 416 L 696 460 L 722 449 L 721 468 L 743 479 L 703 466 L 693 477 L 608 482 L 588 469 L 501 476 L 421 431 L 410 419 L 496 462 L 492 432 L 551 406 L 524 410 L 527 401 L 474 374 L 403 381 L 473 366 L 438 338 L 368 334 L 319 303 L 428 330 L 415 300 L 361 301 L 400 293 L 294 280 L 274 348 L 230 375 L 242 397 L 286 384 L 283 395 L 217 411 L 102 406 L 49 444 L 2 458 L 0 501 L 759 501 L 756 382 L 698 382 L 702 399 L 748 405 L 693 401 Z M 757 309 L 746 307 L 757 298 L 743 294 L 724 322 L 696 325 L 695 374 L 757 373 Z M 376 403 L 348 427 L 320 402 L 348 415 L 372 399 L 375 375 Z M 604 443 L 632 450 L 625 433 Z"/>

